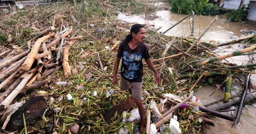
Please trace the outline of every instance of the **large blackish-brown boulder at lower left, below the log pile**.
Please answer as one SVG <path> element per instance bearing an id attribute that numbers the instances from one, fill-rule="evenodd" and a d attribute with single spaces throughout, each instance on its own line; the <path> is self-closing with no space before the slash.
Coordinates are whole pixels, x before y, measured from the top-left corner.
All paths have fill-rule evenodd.
<path id="1" fill-rule="evenodd" d="M 23 113 L 25 115 L 26 125 L 33 126 L 39 120 L 42 120 L 42 116 L 47 108 L 48 106 L 43 96 L 30 98 L 11 116 L 6 126 L 6 131 L 20 131 L 24 128 Z M 48 117 L 53 113 L 53 110 L 48 109 L 45 116 Z"/>

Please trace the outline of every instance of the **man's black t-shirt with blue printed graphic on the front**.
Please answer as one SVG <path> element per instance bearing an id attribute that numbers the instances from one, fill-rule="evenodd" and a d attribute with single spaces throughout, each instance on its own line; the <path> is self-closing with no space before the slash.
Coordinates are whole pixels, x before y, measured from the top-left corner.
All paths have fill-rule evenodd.
<path id="1" fill-rule="evenodd" d="M 117 53 L 117 58 L 121 57 L 121 76 L 129 82 L 142 82 L 142 58 L 150 58 L 146 44 L 140 42 L 134 50 L 131 50 L 128 43 L 122 42 Z"/>

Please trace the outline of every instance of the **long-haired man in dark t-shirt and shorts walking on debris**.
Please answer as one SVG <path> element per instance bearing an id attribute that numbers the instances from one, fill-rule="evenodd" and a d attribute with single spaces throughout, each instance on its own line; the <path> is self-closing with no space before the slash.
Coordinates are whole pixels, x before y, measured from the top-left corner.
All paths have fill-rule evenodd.
<path id="1" fill-rule="evenodd" d="M 160 83 L 159 74 L 150 59 L 147 45 L 143 43 L 146 37 L 145 32 L 145 28 L 142 24 L 134 24 L 131 27 L 131 33 L 126 36 L 125 40 L 119 46 L 114 63 L 114 75 L 112 80 L 113 85 L 116 86 L 116 74 L 122 57 L 120 89 L 129 90 L 130 94 L 133 94 L 135 98 L 141 117 L 141 132 L 143 132 L 146 127 L 145 110 L 141 99 L 143 76 L 142 58 L 145 59 L 149 68 L 154 72 L 155 81 Z"/>

